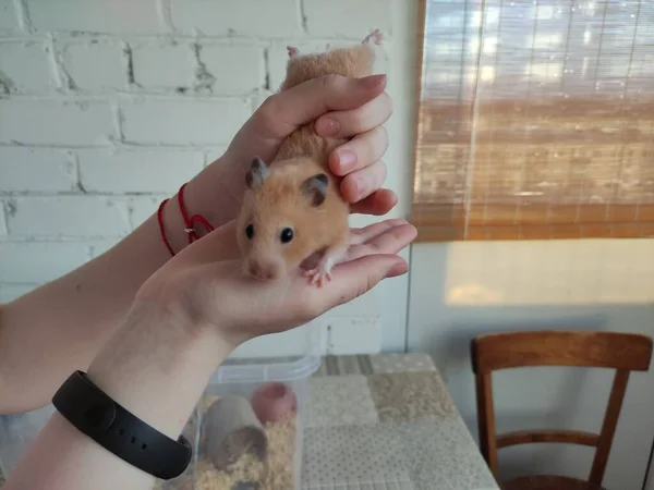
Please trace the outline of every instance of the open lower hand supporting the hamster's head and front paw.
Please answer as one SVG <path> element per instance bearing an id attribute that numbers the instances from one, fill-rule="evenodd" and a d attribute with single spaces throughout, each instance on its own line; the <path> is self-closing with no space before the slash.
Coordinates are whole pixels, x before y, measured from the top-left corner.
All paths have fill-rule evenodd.
<path id="1" fill-rule="evenodd" d="M 383 279 L 405 273 L 407 262 L 397 254 L 416 235 L 403 220 L 352 229 L 359 244 L 334 267 L 330 282 L 314 287 L 301 271 L 274 281 L 243 273 L 234 228 L 231 221 L 187 246 L 143 285 L 137 301 L 164 304 L 182 324 L 219 331 L 235 348 L 252 338 L 306 323 Z"/>

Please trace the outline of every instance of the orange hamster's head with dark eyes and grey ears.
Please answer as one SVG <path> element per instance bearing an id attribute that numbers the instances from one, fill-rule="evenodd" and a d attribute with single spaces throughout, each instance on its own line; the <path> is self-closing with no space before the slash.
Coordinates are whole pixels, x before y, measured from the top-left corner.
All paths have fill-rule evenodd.
<path id="1" fill-rule="evenodd" d="M 256 157 L 245 176 L 237 241 L 243 272 L 261 280 L 286 275 L 315 252 L 311 222 L 327 198 L 327 174 L 313 166 L 283 163 L 269 168 Z"/>

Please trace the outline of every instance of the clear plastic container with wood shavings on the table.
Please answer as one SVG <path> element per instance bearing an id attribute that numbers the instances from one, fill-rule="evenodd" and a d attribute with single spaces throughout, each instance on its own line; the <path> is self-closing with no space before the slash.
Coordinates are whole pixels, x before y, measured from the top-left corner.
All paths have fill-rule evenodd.
<path id="1" fill-rule="evenodd" d="M 256 339 L 237 350 L 213 375 L 199 403 L 183 430 L 193 445 L 193 457 L 186 470 L 178 478 L 157 480 L 157 490 L 293 490 L 300 488 L 302 473 L 302 443 L 305 424 L 308 377 L 319 367 L 319 327 L 314 323 L 289 332 Z M 266 353 L 270 356 L 262 357 Z M 282 395 L 282 401 L 293 400 L 294 411 L 286 413 L 282 421 L 261 422 L 266 436 L 266 456 L 252 460 L 249 452 L 237 463 L 219 471 L 215 460 L 222 417 L 211 417 L 206 412 L 213 403 L 238 396 L 261 416 L 261 406 L 253 406 L 253 395 L 258 391 L 270 396 Z M 255 397 L 256 400 L 262 396 Z M 235 400 L 235 399 L 234 399 Z M 283 405 L 283 404 L 281 404 Z M 281 406 L 278 405 L 278 406 Z M 283 406 L 289 406 L 288 404 Z M 52 413 L 51 405 L 21 416 L 0 416 L 0 470 L 5 477 L 23 456 L 38 431 Z M 264 411 L 265 412 L 265 411 Z M 265 414 L 264 414 L 265 415 Z M 217 418 L 220 418 L 218 420 Z M 229 418 L 229 417 L 227 417 Z M 261 430 L 259 430 L 261 432 Z M 239 475 L 243 476 L 239 476 Z"/>

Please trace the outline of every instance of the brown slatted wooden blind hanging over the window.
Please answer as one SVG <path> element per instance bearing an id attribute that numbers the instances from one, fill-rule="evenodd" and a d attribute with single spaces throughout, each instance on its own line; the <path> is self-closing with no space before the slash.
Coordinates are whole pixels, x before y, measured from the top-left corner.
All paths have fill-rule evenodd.
<path id="1" fill-rule="evenodd" d="M 422 0 L 417 241 L 654 236 L 654 1 Z"/>

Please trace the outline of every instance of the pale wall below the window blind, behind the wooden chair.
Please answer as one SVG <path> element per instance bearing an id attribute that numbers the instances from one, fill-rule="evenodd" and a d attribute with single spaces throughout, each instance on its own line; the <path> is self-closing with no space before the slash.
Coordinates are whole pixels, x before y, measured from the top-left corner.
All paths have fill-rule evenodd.
<path id="1" fill-rule="evenodd" d="M 470 242 L 413 247 L 409 350 L 429 352 L 476 437 L 470 340 L 528 329 L 600 329 L 654 335 L 654 241 Z M 497 430 L 598 432 L 613 373 L 528 368 L 494 375 Z M 654 369 L 633 373 L 605 486 L 640 490 L 654 440 Z M 524 445 L 499 452 L 502 477 L 588 477 L 592 451 Z"/>

